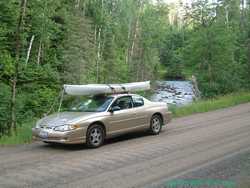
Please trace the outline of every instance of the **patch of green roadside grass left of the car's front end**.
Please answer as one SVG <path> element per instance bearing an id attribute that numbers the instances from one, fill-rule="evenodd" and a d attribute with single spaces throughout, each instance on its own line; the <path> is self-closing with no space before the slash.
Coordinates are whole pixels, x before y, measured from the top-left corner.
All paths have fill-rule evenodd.
<path id="1" fill-rule="evenodd" d="M 23 123 L 22 126 L 17 128 L 17 133 L 11 136 L 0 137 L 0 145 L 16 145 L 24 144 L 32 141 L 31 128 L 34 126 L 35 121 Z"/>

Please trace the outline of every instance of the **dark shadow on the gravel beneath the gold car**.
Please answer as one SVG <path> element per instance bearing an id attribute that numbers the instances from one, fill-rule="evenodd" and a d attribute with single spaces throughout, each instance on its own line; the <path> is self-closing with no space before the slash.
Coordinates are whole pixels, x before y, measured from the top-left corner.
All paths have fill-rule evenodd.
<path id="1" fill-rule="evenodd" d="M 148 136 L 152 136 L 151 134 L 149 134 L 146 131 L 142 131 L 142 132 L 134 132 L 134 133 L 127 133 L 121 136 L 117 136 L 114 138 L 109 138 L 106 139 L 104 142 L 104 145 L 102 147 L 105 146 L 109 146 L 111 144 L 116 144 L 119 142 L 125 142 L 128 140 L 133 140 L 133 139 L 140 139 L 142 137 L 148 137 Z M 77 150 L 91 150 L 91 148 L 88 148 L 86 146 L 86 144 L 58 144 L 58 143 L 44 143 L 42 145 L 40 145 L 41 148 L 46 148 L 46 149 L 57 149 L 57 150 L 68 150 L 68 151 L 77 151 Z"/>

